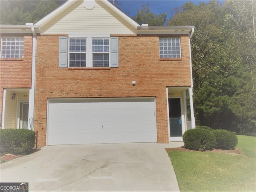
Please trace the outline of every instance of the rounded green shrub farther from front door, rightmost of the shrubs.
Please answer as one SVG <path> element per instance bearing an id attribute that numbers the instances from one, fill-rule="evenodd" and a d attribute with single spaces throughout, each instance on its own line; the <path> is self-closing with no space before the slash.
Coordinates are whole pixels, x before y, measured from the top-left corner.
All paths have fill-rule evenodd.
<path id="1" fill-rule="evenodd" d="M 216 149 L 234 149 L 238 143 L 237 136 L 228 130 L 216 129 L 213 134 L 216 138 Z"/>

